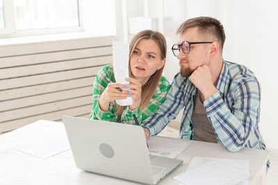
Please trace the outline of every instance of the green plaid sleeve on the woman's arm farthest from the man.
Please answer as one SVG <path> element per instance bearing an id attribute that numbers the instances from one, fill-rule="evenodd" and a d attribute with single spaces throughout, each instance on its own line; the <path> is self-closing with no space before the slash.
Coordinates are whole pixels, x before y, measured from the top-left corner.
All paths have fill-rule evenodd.
<path id="1" fill-rule="evenodd" d="M 90 119 L 93 118 L 115 122 L 117 121 L 117 115 L 115 114 L 115 112 L 113 112 L 113 103 L 109 103 L 108 112 L 102 111 L 99 107 L 99 98 L 108 85 L 108 82 L 106 80 L 106 77 L 108 77 L 108 70 L 108 66 L 105 66 L 99 71 L 99 73 L 97 73 L 97 76 L 95 78 L 94 87 L 92 90 L 92 112 L 90 114 Z"/>

